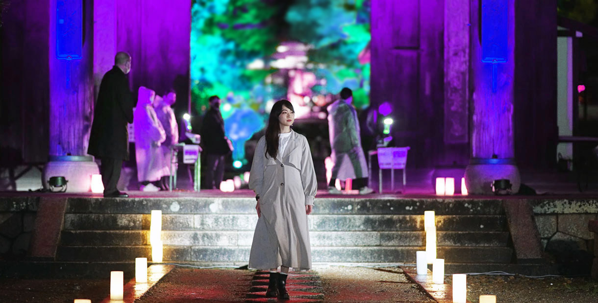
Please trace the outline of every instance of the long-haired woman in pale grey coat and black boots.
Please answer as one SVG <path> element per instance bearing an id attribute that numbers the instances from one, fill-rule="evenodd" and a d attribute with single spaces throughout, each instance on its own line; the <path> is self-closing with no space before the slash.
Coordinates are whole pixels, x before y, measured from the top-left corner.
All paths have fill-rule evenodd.
<path id="1" fill-rule="evenodd" d="M 282 299 L 289 298 L 289 267 L 312 267 L 307 215 L 312 212 L 318 189 L 309 144 L 306 137 L 291 130 L 294 121 L 291 102 L 274 103 L 266 136 L 258 142 L 249 175 L 249 188 L 257 194 L 258 213 L 249 267 L 269 269 L 266 296 Z"/>

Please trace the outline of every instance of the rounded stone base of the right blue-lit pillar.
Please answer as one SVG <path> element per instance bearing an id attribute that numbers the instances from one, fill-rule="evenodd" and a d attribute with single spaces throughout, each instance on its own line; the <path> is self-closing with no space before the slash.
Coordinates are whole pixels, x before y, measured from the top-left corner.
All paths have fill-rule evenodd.
<path id="1" fill-rule="evenodd" d="M 519 191 L 521 176 L 514 160 L 474 158 L 465 169 L 465 185 L 469 194 L 493 195 L 492 182 L 498 179 L 511 181 L 512 194 Z"/>

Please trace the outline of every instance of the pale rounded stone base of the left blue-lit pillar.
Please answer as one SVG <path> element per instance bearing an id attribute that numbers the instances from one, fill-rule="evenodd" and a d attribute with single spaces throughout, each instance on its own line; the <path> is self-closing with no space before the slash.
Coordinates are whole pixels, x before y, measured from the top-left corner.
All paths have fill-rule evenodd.
<path id="1" fill-rule="evenodd" d="M 84 161 L 88 160 L 88 161 Z M 100 170 L 91 157 L 63 156 L 53 157 L 44 167 L 42 184 L 48 189 L 48 180 L 53 176 L 64 176 L 68 181 L 66 192 L 91 191 L 91 175 L 99 174 Z M 54 189 L 56 191 L 56 189 Z"/>

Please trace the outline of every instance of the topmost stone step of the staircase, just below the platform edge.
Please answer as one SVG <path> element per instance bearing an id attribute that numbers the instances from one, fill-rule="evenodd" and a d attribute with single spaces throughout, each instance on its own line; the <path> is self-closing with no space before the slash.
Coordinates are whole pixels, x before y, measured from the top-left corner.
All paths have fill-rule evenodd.
<path id="1" fill-rule="evenodd" d="M 163 214 L 254 214 L 252 197 L 170 197 L 118 199 L 69 198 L 67 213 L 130 213 L 149 214 L 161 210 Z M 504 215 L 502 201 L 494 198 L 317 198 L 315 215 L 371 214 L 422 215 L 435 210 L 437 215 Z"/>

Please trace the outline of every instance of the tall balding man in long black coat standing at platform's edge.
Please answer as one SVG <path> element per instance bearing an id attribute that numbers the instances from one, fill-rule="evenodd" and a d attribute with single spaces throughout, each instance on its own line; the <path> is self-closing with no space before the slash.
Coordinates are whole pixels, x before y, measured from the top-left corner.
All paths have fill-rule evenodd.
<path id="1" fill-rule="evenodd" d="M 87 154 L 102 160 L 104 197 L 129 197 L 116 188 L 123 160 L 129 160 L 129 130 L 133 123 L 133 102 L 127 74 L 131 56 L 120 51 L 114 57 L 114 67 L 106 72 L 100 84 Z"/>

